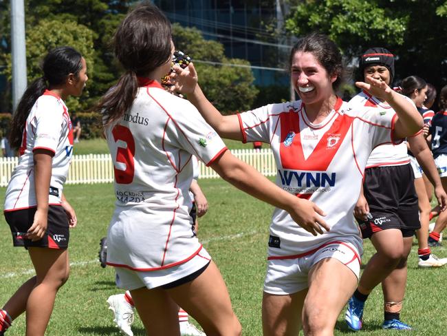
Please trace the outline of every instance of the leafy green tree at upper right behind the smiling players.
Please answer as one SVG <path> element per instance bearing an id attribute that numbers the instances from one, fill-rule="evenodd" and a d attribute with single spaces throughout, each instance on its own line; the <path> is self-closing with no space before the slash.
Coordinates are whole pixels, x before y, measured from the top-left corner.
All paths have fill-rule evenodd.
<path id="1" fill-rule="evenodd" d="M 417 74 L 440 87 L 447 81 L 447 1 L 289 0 L 288 34 L 328 34 L 352 64 L 367 48 L 396 55 L 396 83 Z"/>

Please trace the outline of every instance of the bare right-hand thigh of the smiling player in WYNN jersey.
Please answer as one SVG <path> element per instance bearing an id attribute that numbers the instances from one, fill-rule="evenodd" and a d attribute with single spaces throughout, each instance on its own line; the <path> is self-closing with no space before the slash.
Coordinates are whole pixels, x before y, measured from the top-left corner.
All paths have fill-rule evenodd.
<path id="1" fill-rule="evenodd" d="M 303 307 L 306 336 L 332 336 L 340 311 L 356 289 L 357 277 L 334 258 L 320 260 L 309 272 Z"/>

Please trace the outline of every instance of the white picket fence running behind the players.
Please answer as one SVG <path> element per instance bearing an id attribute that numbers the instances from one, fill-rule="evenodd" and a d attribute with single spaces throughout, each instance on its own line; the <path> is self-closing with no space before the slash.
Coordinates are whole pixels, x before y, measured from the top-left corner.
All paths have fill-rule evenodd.
<path id="1" fill-rule="evenodd" d="M 235 149 L 233 155 L 252 165 L 264 176 L 276 175 L 276 164 L 270 149 Z M 0 187 L 6 187 L 11 178 L 12 169 L 19 158 L 0 158 Z M 199 178 L 219 178 L 219 175 L 202 162 Z M 110 183 L 113 182 L 113 165 L 109 154 L 74 155 L 67 178 L 67 185 Z"/>

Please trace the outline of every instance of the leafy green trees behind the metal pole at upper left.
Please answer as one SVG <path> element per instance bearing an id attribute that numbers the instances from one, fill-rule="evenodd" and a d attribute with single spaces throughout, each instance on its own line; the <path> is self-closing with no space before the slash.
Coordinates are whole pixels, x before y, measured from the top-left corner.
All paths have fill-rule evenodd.
<path id="1" fill-rule="evenodd" d="M 5 41 L 0 43 L 0 66 L 10 62 L 6 61 L 11 52 L 9 2 L 0 2 L 0 36 Z M 69 109 L 91 107 L 119 76 L 109 45 L 129 6 L 129 1 L 119 0 L 25 0 L 27 49 L 41 51 L 41 54 L 30 54 L 27 50 L 28 71 L 35 70 L 34 58 L 40 58 L 49 50 L 36 47 L 34 40 L 43 43 L 45 48 L 72 45 L 87 60 L 89 81 L 83 96 L 70 99 L 67 105 Z M 58 36 L 57 40 L 54 35 Z M 32 78 L 34 74 L 30 72 L 28 81 Z"/>

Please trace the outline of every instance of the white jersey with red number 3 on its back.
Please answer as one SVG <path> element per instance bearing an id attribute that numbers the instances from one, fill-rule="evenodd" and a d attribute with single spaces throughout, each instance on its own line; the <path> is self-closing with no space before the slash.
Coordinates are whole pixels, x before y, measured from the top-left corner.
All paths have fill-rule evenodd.
<path id="1" fill-rule="evenodd" d="M 142 85 L 131 109 L 106 129 L 116 193 L 107 263 L 156 271 L 203 249 L 189 216 L 191 158 L 210 165 L 226 146 L 191 103 L 156 81 Z"/>

